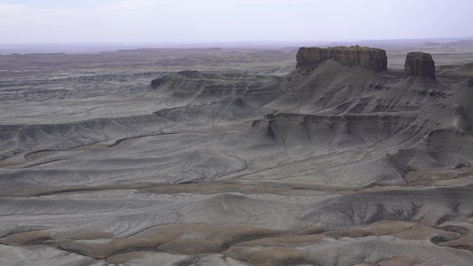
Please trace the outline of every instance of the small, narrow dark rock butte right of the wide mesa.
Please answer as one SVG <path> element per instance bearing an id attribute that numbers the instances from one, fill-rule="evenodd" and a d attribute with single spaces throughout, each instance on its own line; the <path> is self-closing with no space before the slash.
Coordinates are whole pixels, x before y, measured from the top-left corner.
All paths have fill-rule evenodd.
<path id="1" fill-rule="evenodd" d="M 407 53 L 404 64 L 405 76 L 430 77 L 435 80 L 435 62 L 430 53 L 413 51 Z"/>

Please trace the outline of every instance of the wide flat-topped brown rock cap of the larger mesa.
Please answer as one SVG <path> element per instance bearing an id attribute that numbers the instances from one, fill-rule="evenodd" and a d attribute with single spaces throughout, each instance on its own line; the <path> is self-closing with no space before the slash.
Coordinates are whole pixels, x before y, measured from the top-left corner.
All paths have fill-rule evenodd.
<path id="1" fill-rule="evenodd" d="M 351 46 L 301 47 L 296 55 L 297 66 L 318 66 L 321 62 L 334 59 L 343 66 L 361 66 L 368 70 L 382 71 L 388 66 L 386 51 L 378 48 Z"/>

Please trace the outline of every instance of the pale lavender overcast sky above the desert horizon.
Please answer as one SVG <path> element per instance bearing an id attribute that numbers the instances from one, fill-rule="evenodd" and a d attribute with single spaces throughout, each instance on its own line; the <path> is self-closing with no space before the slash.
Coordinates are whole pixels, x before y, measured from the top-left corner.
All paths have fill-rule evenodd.
<path id="1" fill-rule="evenodd" d="M 0 43 L 473 36 L 473 0 L 0 0 Z"/>

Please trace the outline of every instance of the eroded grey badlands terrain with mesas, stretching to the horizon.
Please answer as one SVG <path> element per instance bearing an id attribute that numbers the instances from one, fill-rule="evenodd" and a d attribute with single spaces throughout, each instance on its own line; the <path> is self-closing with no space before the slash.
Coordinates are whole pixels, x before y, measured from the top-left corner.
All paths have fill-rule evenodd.
<path id="1" fill-rule="evenodd" d="M 471 265 L 472 78 L 471 47 L 0 55 L 0 265 Z"/>

